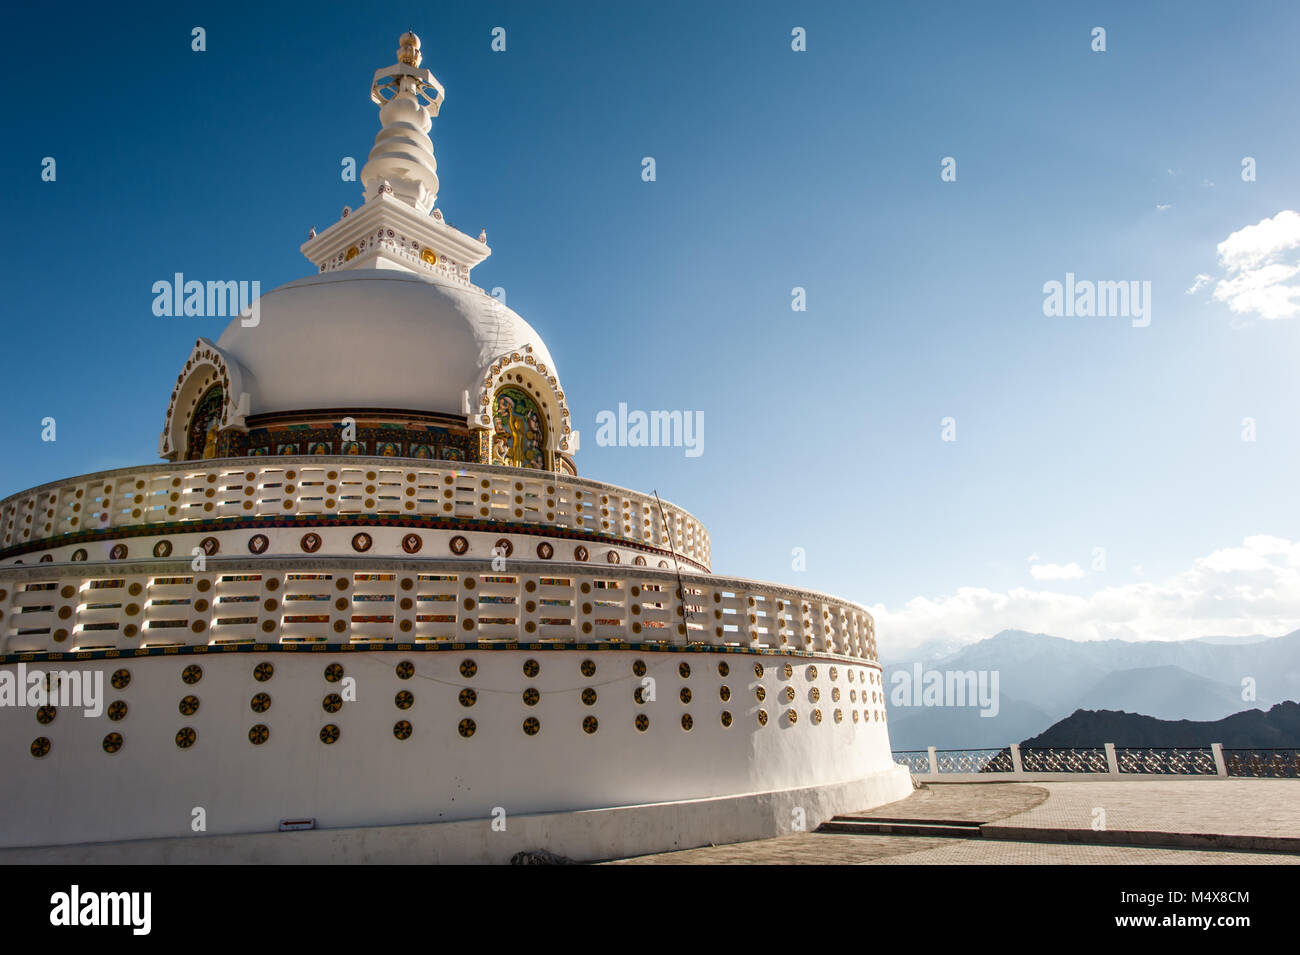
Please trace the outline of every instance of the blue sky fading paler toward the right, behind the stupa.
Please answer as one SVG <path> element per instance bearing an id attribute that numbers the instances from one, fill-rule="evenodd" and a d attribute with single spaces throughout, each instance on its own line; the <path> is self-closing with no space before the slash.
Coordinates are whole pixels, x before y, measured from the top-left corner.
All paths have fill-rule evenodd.
<path id="1" fill-rule="evenodd" d="M 858 600 L 901 642 L 1300 625 L 1300 316 L 1214 298 L 1219 243 L 1300 203 L 1295 4 L 73 4 L 8 25 L 0 494 L 156 460 L 174 377 L 224 321 L 155 317 L 152 283 L 311 274 L 298 246 L 360 204 L 339 162 L 364 162 L 370 75 L 411 26 L 447 90 L 438 205 L 488 229 L 477 283 L 546 338 L 580 472 L 690 509 L 718 572 Z M 1150 325 L 1045 317 L 1067 272 L 1149 281 Z M 705 453 L 598 447 L 619 401 L 702 411 Z"/>

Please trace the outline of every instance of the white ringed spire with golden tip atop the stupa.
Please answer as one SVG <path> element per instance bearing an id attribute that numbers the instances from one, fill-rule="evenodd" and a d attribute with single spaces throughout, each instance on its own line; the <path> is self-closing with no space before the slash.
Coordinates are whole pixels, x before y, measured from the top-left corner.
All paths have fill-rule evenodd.
<path id="1" fill-rule="evenodd" d="M 380 105 L 382 129 L 361 169 L 365 201 L 386 182 L 394 197 L 428 214 L 438 197 L 438 162 L 429 140 L 432 117 L 442 105 L 442 84 L 420 64 L 420 38 L 410 30 L 398 39 L 398 61 L 374 73 L 370 101 Z"/>

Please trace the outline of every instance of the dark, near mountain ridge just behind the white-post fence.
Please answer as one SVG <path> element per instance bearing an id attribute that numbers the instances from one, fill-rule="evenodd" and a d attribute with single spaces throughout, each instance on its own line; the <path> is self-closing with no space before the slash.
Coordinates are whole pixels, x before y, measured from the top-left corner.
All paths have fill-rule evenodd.
<path id="1" fill-rule="evenodd" d="M 1114 743 L 1121 747 L 1204 747 L 1226 750 L 1300 747 L 1300 703 L 1278 703 L 1268 712 L 1247 709 L 1222 720 L 1156 720 L 1140 713 L 1076 709 L 1020 746 L 1079 747 Z"/>

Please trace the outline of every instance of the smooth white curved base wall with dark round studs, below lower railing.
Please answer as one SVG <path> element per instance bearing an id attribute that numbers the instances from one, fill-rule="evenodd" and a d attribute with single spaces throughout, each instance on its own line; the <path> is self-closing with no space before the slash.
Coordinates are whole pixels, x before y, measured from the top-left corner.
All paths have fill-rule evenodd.
<path id="1" fill-rule="evenodd" d="M 468 680 L 459 672 L 464 659 L 478 667 Z M 541 665 L 536 680 L 523 673 L 526 659 Z M 580 672 L 586 659 L 597 664 L 590 678 Z M 653 703 L 633 700 L 641 683 L 632 670 L 636 659 L 656 681 Z M 276 665 L 268 682 L 252 676 L 263 660 Z M 415 664 L 415 677 L 398 678 L 400 660 Z M 722 660 L 731 668 L 727 677 L 716 669 Z M 321 700 L 338 685 L 322 673 L 333 661 L 356 678 L 358 700 L 329 715 Z M 692 668 L 689 678 L 679 674 L 682 661 Z M 181 673 L 194 663 L 204 674 L 187 686 Z M 754 663 L 763 664 L 762 678 Z M 494 807 L 510 815 L 604 808 L 826 786 L 892 772 L 883 698 L 861 698 L 864 689 L 880 693 L 879 668 L 815 660 L 818 676 L 810 680 L 810 660 L 789 659 L 792 678 L 784 676 L 785 663 L 755 654 L 480 648 L 213 650 L 51 664 L 103 670 L 105 707 L 122 699 L 129 712 L 113 722 L 64 709 L 40 725 L 31 708 L 0 708 L 0 800 L 6 807 L 0 845 L 185 837 L 192 834 L 195 807 L 207 812 L 208 834 L 233 834 L 273 832 L 289 817 L 315 817 L 322 828 L 437 822 L 485 819 Z M 837 668 L 835 681 L 831 667 Z M 118 668 L 133 676 L 121 691 L 109 686 Z M 868 673 L 874 676 L 864 685 L 862 674 Z M 723 685 L 732 693 L 727 703 L 719 699 Z M 537 706 L 524 704 L 526 686 L 540 691 Z M 755 700 L 757 686 L 766 691 L 763 703 Z M 784 699 L 786 686 L 794 687 L 793 703 Z M 815 704 L 809 699 L 814 686 L 820 691 Z M 478 694 L 474 706 L 458 702 L 463 687 Z M 594 706 L 582 703 L 586 687 L 597 691 Z M 680 700 L 682 687 L 692 690 L 689 704 Z M 831 699 L 832 687 L 841 690 L 838 703 Z M 415 694 L 406 711 L 394 704 L 402 690 Z M 850 690 L 859 694 L 857 702 L 850 702 Z M 250 708 L 259 691 L 272 696 L 270 709 L 260 715 Z M 191 693 L 200 707 L 186 717 L 178 703 Z M 760 708 L 770 716 L 766 726 L 757 721 Z M 784 716 L 790 708 L 798 713 L 794 725 Z M 814 708 L 823 713 L 819 725 L 811 719 Z M 838 724 L 836 708 L 844 717 Z M 733 715 L 729 728 L 720 721 L 724 709 Z M 633 722 L 638 713 L 650 717 L 644 733 Z M 684 713 L 694 720 L 690 732 L 681 728 Z M 533 737 L 521 729 L 529 716 L 541 721 Z M 599 721 L 594 734 L 582 730 L 588 716 Z M 477 724 L 468 739 L 458 733 L 465 717 Z M 406 741 L 393 734 L 402 719 L 413 726 Z M 251 745 L 247 735 L 257 722 L 270 728 L 263 746 Z M 341 729 L 332 746 L 318 737 L 328 722 Z M 187 750 L 174 741 L 182 726 L 198 733 Z M 112 755 L 101 747 L 110 732 L 124 738 Z M 39 735 L 51 741 L 51 751 L 35 759 L 29 747 Z"/>

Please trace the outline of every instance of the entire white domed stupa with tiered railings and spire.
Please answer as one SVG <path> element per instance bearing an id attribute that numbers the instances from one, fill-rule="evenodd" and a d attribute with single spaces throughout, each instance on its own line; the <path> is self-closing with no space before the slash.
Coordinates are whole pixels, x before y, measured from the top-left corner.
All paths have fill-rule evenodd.
<path id="1" fill-rule="evenodd" d="M 436 207 L 413 34 L 370 97 L 364 203 L 195 343 L 164 463 L 0 502 L 0 703 L 105 691 L 0 706 L 0 859 L 594 859 L 905 796 L 871 616 L 577 477 L 554 359 Z"/>

